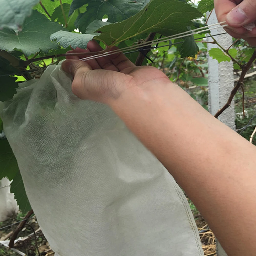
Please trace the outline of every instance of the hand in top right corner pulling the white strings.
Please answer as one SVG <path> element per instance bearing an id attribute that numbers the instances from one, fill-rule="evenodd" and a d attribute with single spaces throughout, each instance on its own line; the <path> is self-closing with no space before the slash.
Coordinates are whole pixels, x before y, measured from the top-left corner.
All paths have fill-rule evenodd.
<path id="1" fill-rule="evenodd" d="M 256 28 L 249 31 L 243 27 L 256 20 L 255 0 L 214 0 L 214 7 L 218 21 L 226 21 L 229 26 L 225 30 L 232 37 L 256 46 Z"/>

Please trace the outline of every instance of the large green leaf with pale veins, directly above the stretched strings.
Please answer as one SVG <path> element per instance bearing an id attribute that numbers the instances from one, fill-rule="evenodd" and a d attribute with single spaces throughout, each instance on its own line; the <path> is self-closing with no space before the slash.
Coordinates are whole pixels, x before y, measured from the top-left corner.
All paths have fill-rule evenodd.
<path id="1" fill-rule="evenodd" d="M 151 0 L 139 13 L 122 22 L 100 28 L 98 37 L 107 45 L 115 45 L 142 33 L 158 32 L 164 36 L 187 31 L 191 19 L 201 13 L 191 5 L 177 0 Z"/>

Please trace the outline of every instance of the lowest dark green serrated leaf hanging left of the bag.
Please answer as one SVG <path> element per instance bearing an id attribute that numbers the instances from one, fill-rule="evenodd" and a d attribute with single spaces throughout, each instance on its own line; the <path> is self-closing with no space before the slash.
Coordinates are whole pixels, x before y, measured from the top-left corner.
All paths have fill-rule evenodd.
<path id="1" fill-rule="evenodd" d="M 20 172 L 13 178 L 11 193 L 14 193 L 14 198 L 17 200 L 20 211 L 28 212 L 31 210 Z"/>

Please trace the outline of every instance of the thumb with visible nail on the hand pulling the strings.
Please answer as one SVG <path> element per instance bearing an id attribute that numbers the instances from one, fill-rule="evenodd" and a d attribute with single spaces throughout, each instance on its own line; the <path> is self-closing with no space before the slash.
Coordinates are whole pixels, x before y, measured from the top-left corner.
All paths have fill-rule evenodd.
<path id="1" fill-rule="evenodd" d="M 227 23 L 232 27 L 241 27 L 256 20 L 256 1 L 244 0 L 227 14 Z"/>

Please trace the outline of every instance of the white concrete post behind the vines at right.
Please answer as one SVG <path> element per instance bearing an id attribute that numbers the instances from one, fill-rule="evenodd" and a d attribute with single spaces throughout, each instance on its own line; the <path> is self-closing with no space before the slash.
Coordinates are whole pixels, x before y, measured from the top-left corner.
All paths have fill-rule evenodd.
<path id="1" fill-rule="evenodd" d="M 208 13 L 209 15 L 209 13 Z M 213 11 L 208 25 L 218 23 L 215 12 Z M 223 28 L 214 29 L 211 31 L 211 35 L 220 34 L 225 32 Z M 216 41 L 225 49 L 232 44 L 232 37 L 228 34 L 214 36 Z M 207 39 L 209 42 L 212 38 Z M 208 44 L 208 51 L 211 48 L 218 48 L 215 44 Z M 208 55 L 208 86 L 209 86 L 209 112 L 215 114 L 228 100 L 231 90 L 234 87 L 233 82 L 233 62 L 221 62 L 212 59 Z M 220 116 L 219 120 L 229 126 L 231 129 L 235 129 L 235 109 L 234 102 L 231 103 L 231 107 L 226 109 Z M 216 241 L 217 256 L 227 256 L 220 243 Z"/>

